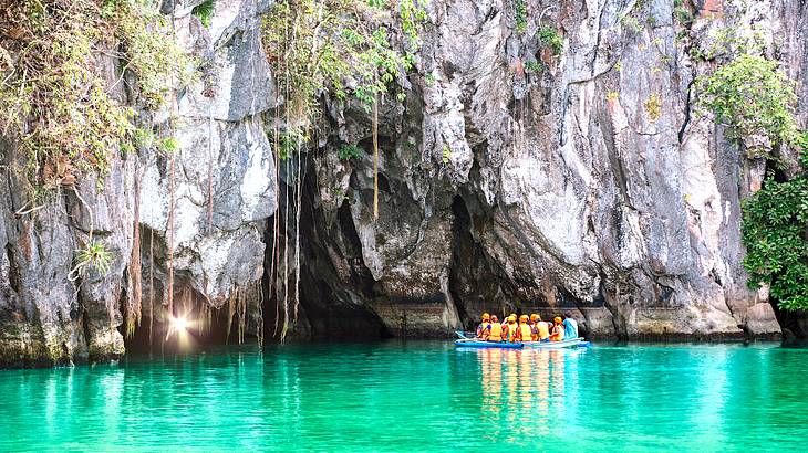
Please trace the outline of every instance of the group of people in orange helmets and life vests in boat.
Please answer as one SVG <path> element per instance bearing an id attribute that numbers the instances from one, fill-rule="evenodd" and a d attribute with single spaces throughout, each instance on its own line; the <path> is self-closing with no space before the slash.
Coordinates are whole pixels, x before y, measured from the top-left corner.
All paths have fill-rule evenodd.
<path id="1" fill-rule="evenodd" d="M 484 341 L 563 341 L 564 338 L 578 338 L 578 323 L 570 313 L 564 313 L 563 319 L 556 316 L 552 323 L 532 314 L 519 316 L 516 314 L 506 317 L 501 323 L 497 315 L 483 314 L 483 322 L 477 326 L 477 338 Z"/>

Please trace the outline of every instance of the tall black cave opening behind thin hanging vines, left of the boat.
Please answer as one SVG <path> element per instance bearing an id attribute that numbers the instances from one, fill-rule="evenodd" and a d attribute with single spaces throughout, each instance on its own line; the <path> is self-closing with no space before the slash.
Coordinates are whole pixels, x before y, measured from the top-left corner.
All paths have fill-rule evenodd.
<path id="1" fill-rule="evenodd" d="M 297 319 L 292 319 L 289 340 L 318 340 L 324 338 L 352 339 L 383 339 L 392 335 L 379 316 L 369 308 L 367 302 L 373 298 L 374 281 L 370 271 L 362 264 L 362 245 L 355 230 L 351 209 L 343 201 L 336 212 L 333 223 L 325 219 L 319 203 L 317 179 L 313 159 L 308 160 L 303 173 L 303 185 L 300 207 L 300 283 L 298 285 L 300 305 Z M 380 175 L 380 186 L 385 179 Z M 280 185 L 278 196 L 278 238 L 284 235 L 289 246 L 293 246 L 294 234 L 294 188 Z M 284 203 L 289 202 L 289 207 Z M 289 221 L 284 215 L 289 215 Z M 280 339 L 283 323 L 283 302 L 279 301 L 279 292 L 271 283 L 277 280 L 278 260 L 273 253 L 276 218 L 270 218 L 265 232 L 265 271 L 262 277 L 263 291 L 263 323 L 265 339 L 268 343 Z M 288 225 L 288 227 L 287 227 Z M 344 251 L 335 244 L 339 242 Z M 340 251 L 340 252 L 335 252 Z M 331 252 L 331 253 L 330 253 Z M 336 256 L 332 255 L 338 253 Z M 350 267 L 348 278 L 341 278 L 332 260 L 342 260 Z M 343 263 L 343 264 L 344 264 Z M 291 276 L 293 278 L 293 275 Z M 290 282 L 290 294 L 293 285 Z M 281 295 L 282 297 L 282 295 Z M 291 309 L 291 308 L 290 308 Z M 291 318 L 293 316 L 290 315 Z M 276 328 L 276 325 L 279 327 Z"/>

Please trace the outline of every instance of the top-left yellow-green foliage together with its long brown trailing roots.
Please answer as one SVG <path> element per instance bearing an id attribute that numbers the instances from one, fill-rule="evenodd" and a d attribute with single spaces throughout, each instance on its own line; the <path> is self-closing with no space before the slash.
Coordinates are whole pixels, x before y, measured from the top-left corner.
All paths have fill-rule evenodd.
<path id="1" fill-rule="evenodd" d="M 90 215 L 70 281 L 90 268 L 105 275 L 114 260 L 103 242 L 93 240 L 93 212 L 77 182 L 92 176 L 101 190 L 114 159 L 148 148 L 144 140 L 151 130 L 138 126 L 116 91 L 126 86 L 131 101 L 156 109 L 176 87 L 176 77 L 182 84 L 194 77 L 190 57 L 174 35 L 166 38 L 168 27 L 151 1 L 0 0 L 0 135 L 23 157 L 10 166 L 30 182 L 23 213 L 68 188 Z M 107 78 L 107 64 L 115 80 Z M 138 185 L 123 307 L 127 336 L 142 319 Z M 115 307 L 107 308 L 112 326 Z"/>

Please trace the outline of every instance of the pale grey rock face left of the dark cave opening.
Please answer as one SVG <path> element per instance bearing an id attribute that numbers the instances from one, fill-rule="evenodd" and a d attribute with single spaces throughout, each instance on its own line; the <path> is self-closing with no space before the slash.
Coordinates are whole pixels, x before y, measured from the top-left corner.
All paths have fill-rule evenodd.
<path id="1" fill-rule="evenodd" d="M 164 13 L 174 15 L 176 38 L 199 59 L 204 74 L 178 92 L 176 102 L 142 117 L 158 138 L 174 137 L 178 149 L 139 149 L 114 162 L 103 191 L 90 178 L 75 189 L 62 188 L 41 207 L 27 198 L 24 177 L 3 173 L 0 365 L 124 354 L 135 229 L 141 236 L 135 254 L 143 263 L 143 319 L 135 337 L 148 341 L 151 335 L 165 335 L 170 179 L 175 314 L 198 316 L 229 304 L 221 312 L 231 319 L 241 316 L 253 330 L 260 322 L 263 233 L 277 209 L 274 157 L 261 119 L 274 104 L 259 36 L 259 14 L 271 2 L 219 0 L 209 30 L 190 14 L 201 0 L 174 3 L 172 11 L 166 2 Z M 102 64 L 108 65 L 103 73 L 115 74 L 115 61 Z M 137 93 L 124 93 L 113 82 L 122 102 L 137 104 Z M 0 141 L 0 148 L 4 164 L 24 164 L 11 144 Z M 74 252 L 91 230 L 112 252 L 112 270 L 69 281 Z M 154 334 L 146 331 L 149 324 Z"/>

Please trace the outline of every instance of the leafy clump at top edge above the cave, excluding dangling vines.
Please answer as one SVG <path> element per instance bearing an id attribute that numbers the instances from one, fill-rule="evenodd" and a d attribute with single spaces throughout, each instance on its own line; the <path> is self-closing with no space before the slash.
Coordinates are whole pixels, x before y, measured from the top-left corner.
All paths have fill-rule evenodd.
<path id="1" fill-rule="evenodd" d="M 411 70 L 418 23 L 426 12 L 418 0 L 291 0 L 277 3 L 263 20 L 263 44 L 286 96 L 289 126 L 308 128 L 321 114 L 319 97 L 353 95 L 370 112 L 380 94 Z M 395 22 L 404 51 L 393 49 Z"/>

